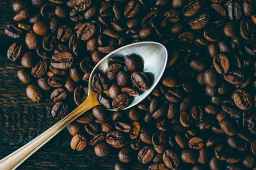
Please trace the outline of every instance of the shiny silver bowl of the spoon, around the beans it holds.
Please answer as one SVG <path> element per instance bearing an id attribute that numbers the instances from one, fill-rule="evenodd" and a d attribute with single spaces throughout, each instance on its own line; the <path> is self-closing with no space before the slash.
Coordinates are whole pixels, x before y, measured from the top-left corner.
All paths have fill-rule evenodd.
<path id="1" fill-rule="evenodd" d="M 88 87 L 88 96 L 90 93 L 95 93 L 92 89 L 92 76 L 97 71 L 101 71 L 102 73 L 107 73 L 108 71 L 108 59 L 111 57 L 124 57 L 125 55 L 136 54 L 139 55 L 143 60 L 143 72 L 149 74 L 150 77 L 150 87 L 142 92 L 139 96 L 134 97 L 132 103 L 129 104 L 124 110 L 135 106 L 140 103 L 145 97 L 147 97 L 152 90 L 156 87 L 158 81 L 161 79 L 161 76 L 164 73 L 164 69 L 166 67 L 168 55 L 166 48 L 160 43 L 152 42 L 152 41 L 143 41 L 139 43 L 132 43 L 130 45 L 122 46 L 117 50 L 109 53 L 104 57 L 98 64 L 94 67 L 90 79 L 89 79 L 89 87 Z M 109 109 L 111 111 L 116 111 L 114 109 Z"/>

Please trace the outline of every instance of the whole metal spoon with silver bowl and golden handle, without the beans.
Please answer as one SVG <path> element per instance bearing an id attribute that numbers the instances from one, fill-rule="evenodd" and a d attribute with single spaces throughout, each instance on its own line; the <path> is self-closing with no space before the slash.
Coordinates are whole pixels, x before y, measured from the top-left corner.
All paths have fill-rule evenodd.
<path id="1" fill-rule="evenodd" d="M 167 62 L 167 50 L 160 43 L 152 42 L 152 41 L 144 41 L 140 43 L 133 43 L 130 45 L 122 46 L 117 50 L 109 53 L 104 57 L 100 62 L 94 67 L 90 79 L 89 79 L 89 87 L 88 87 L 88 97 L 86 100 L 80 104 L 74 111 L 69 113 L 66 117 L 61 119 L 56 124 L 52 125 L 45 132 L 37 136 L 35 139 L 22 146 L 15 152 L 11 153 L 7 157 L 4 157 L 0 160 L 1 169 L 15 169 L 22 162 L 24 162 L 28 157 L 30 157 L 33 153 L 36 152 L 39 148 L 41 148 L 47 141 L 52 139 L 56 134 L 58 134 L 64 127 L 70 124 L 72 121 L 76 120 L 79 116 L 81 116 L 87 110 L 93 108 L 93 106 L 97 106 L 99 103 L 97 101 L 97 93 L 92 90 L 92 75 L 95 71 L 102 71 L 106 73 L 108 71 L 108 58 L 114 56 L 124 56 L 129 55 L 131 53 L 140 55 L 144 61 L 144 70 L 145 73 L 152 74 L 153 82 L 149 89 L 140 94 L 140 96 L 134 97 L 132 103 L 127 106 L 126 109 L 131 108 L 132 106 L 140 103 L 145 97 L 152 92 L 152 90 L 156 87 L 158 81 L 164 73 L 164 69 L 166 67 Z M 113 110 L 114 111 L 114 110 Z"/>

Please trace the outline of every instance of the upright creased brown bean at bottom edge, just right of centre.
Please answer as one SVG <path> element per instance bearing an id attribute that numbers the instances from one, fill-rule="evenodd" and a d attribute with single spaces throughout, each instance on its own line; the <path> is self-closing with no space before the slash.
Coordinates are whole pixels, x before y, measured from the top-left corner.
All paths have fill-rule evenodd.
<path id="1" fill-rule="evenodd" d="M 165 150 L 163 153 L 164 164 L 170 169 L 174 169 L 179 166 L 180 159 L 178 155 L 172 150 Z"/>

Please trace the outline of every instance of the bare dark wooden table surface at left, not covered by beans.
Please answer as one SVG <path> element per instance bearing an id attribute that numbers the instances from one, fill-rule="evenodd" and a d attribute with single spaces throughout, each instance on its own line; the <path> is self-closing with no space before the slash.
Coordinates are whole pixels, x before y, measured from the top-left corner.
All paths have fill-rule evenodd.
<path id="1" fill-rule="evenodd" d="M 17 78 L 19 63 L 6 57 L 13 39 L 4 34 L 6 24 L 12 22 L 12 1 L 0 1 L 0 159 L 25 145 L 54 124 L 50 110 L 52 103 L 44 100 L 31 103 L 26 97 L 26 85 Z M 108 157 L 99 158 L 92 146 L 82 152 L 70 148 L 67 129 L 29 157 L 18 169 L 113 169 L 118 150 L 112 149 Z M 147 169 L 138 160 L 127 164 L 128 169 Z M 1 169 L 1 167 L 0 167 Z"/>

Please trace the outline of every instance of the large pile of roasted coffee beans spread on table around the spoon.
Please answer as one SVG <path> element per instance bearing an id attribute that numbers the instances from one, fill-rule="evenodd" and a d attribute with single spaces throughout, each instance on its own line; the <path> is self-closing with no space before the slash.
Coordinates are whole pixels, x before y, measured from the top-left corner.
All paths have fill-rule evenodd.
<path id="1" fill-rule="evenodd" d="M 7 57 L 22 64 L 29 99 L 51 97 L 52 116 L 62 118 L 86 99 L 104 55 L 128 43 L 163 43 L 168 64 L 156 89 L 129 110 L 99 105 L 84 113 L 68 125 L 71 148 L 92 145 L 98 157 L 118 148 L 115 169 L 134 159 L 148 169 L 255 169 L 255 3 L 16 0 L 5 32 L 17 41 Z"/>

